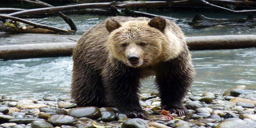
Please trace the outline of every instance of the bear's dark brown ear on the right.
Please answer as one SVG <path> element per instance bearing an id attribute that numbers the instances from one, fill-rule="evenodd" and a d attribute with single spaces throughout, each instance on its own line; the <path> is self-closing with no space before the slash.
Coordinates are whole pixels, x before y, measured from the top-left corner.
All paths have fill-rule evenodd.
<path id="1" fill-rule="evenodd" d="M 148 23 L 149 26 L 159 29 L 163 31 L 166 26 L 166 19 L 160 16 L 154 17 Z"/>

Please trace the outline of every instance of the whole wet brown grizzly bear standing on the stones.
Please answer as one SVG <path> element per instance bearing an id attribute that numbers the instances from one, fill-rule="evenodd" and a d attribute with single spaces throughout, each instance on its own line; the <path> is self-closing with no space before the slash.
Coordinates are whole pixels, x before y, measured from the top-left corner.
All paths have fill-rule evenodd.
<path id="1" fill-rule="evenodd" d="M 78 106 L 113 106 L 129 118 L 145 118 L 141 80 L 155 76 L 162 109 L 185 115 L 182 99 L 194 74 L 184 34 L 173 21 L 110 17 L 77 42 L 71 97 Z"/>

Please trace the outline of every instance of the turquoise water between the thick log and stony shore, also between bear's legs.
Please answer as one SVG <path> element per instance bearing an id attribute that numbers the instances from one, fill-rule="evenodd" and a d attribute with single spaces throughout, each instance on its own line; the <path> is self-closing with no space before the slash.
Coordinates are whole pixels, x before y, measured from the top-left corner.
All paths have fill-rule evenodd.
<path id="1" fill-rule="evenodd" d="M 256 49 L 191 52 L 197 75 L 192 93 L 223 93 L 236 85 L 256 90 Z M 13 98 L 42 98 L 44 94 L 70 98 L 72 57 L 0 61 L 0 94 Z M 143 81 L 142 93 L 156 89 Z"/>

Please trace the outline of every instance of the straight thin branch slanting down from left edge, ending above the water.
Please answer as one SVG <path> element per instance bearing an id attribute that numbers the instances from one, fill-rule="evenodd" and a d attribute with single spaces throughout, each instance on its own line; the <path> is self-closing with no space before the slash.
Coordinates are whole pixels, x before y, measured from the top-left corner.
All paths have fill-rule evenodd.
<path id="1" fill-rule="evenodd" d="M 56 27 L 52 27 L 52 26 L 48 26 L 48 25 L 42 25 L 42 24 L 34 23 L 34 22 L 29 21 L 29 20 L 20 19 L 20 18 L 17 18 L 17 17 L 11 17 L 11 16 L 6 16 L 6 15 L 0 15 L 0 17 L 2 17 L 3 19 L 10 19 L 10 20 L 26 23 L 26 24 L 29 24 L 29 25 L 32 25 L 32 26 L 35 26 L 35 27 L 38 27 L 38 28 L 52 30 L 52 31 L 55 31 L 55 32 L 64 32 L 64 33 L 75 32 L 73 30 L 60 29 L 60 28 L 56 28 Z"/>

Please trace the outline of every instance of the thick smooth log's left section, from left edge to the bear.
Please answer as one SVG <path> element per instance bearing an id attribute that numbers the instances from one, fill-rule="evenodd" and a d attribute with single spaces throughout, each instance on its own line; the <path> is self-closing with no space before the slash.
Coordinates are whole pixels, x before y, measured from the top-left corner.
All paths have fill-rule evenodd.
<path id="1" fill-rule="evenodd" d="M 72 55 L 76 43 L 46 43 L 0 46 L 0 60 L 44 58 Z"/>

